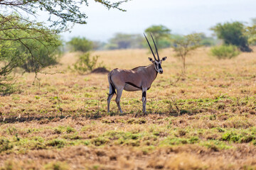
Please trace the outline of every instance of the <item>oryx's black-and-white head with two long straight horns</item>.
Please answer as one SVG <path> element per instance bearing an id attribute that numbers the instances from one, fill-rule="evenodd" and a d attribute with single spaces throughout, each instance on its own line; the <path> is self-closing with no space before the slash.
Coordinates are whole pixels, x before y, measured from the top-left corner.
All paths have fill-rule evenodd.
<path id="1" fill-rule="evenodd" d="M 150 35 L 151 35 L 151 34 L 150 34 Z M 145 34 L 144 34 L 144 36 L 145 36 L 145 38 L 146 38 L 146 35 L 145 35 Z M 152 35 L 151 35 L 151 38 L 152 38 L 152 40 L 153 40 L 153 42 L 154 42 L 154 38 L 153 38 Z M 146 38 L 146 41 L 147 41 L 148 44 L 149 44 L 149 40 L 147 40 L 147 38 Z M 157 52 L 157 47 L 156 47 L 156 43 L 155 43 L 155 42 L 154 42 L 154 46 L 155 46 L 155 48 L 156 48 L 157 59 L 156 59 L 156 56 L 154 55 L 154 52 L 153 52 L 153 50 L 152 50 L 152 48 L 151 48 L 151 46 L 150 46 L 150 44 L 149 44 L 150 50 L 151 50 L 151 52 L 152 52 L 152 55 L 154 56 L 154 60 L 153 60 L 151 57 L 149 57 L 149 61 L 151 61 L 151 62 L 154 64 L 154 68 L 155 68 L 156 72 L 159 72 L 160 74 L 162 74 L 164 71 L 163 71 L 163 69 L 162 69 L 162 67 L 161 67 L 161 62 L 164 61 L 164 60 L 166 60 L 167 57 L 163 57 L 163 58 L 160 60 L 160 59 L 159 59 L 159 54 L 158 54 L 158 52 Z"/>

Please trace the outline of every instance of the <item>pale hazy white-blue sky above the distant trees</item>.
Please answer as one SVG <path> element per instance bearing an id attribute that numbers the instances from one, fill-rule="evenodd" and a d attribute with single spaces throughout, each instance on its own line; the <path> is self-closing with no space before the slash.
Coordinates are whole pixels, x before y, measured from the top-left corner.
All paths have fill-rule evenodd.
<path id="1" fill-rule="evenodd" d="M 122 5 L 126 12 L 107 10 L 89 2 L 82 7 L 87 13 L 87 25 L 76 25 L 71 33 L 62 33 L 65 40 L 82 36 L 90 40 L 107 41 L 114 33 L 139 33 L 152 25 L 164 25 L 171 33 L 213 33 L 216 23 L 245 21 L 256 18 L 255 0 L 132 0 Z"/>

